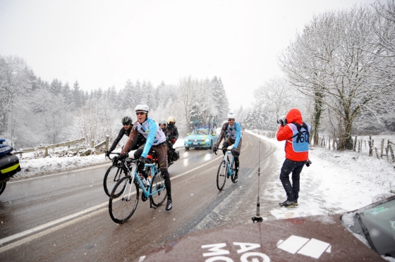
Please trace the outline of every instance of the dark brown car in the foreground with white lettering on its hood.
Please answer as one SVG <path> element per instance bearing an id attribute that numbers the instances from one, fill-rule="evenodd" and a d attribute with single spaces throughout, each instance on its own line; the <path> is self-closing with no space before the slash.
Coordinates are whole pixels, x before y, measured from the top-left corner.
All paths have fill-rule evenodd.
<path id="1" fill-rule="evenodd" d="M 395 261 L 395 196 L 347 213 L 192 232 L 139 261 Z"/>

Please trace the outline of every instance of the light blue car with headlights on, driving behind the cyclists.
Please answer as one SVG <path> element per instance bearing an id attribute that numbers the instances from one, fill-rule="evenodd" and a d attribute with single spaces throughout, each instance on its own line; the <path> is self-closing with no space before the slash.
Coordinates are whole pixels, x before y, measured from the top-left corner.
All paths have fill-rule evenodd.
<path id="1" fill-rule="evenodd" d="M 215 130 L 207 127 L 195 128 L 184 139 L 184 146 L 186 150 L 190 148 L 204 148 L 212 149 L 212 146 L 217 143 L 218 135 Z"/>

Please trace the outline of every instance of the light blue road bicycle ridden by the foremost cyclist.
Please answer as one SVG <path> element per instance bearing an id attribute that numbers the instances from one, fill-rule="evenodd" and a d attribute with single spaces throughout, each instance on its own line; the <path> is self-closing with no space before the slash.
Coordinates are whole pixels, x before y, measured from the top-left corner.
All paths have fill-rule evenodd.
<path id="1" fill-rule="evenodd" d="M 140 189 L 142 190 L 141 200 L 146 201 L 149 198 L 151 208 L 161 206 L 167 198 L 164 180 L 159 175 L 156 163 L 145 164 L 146 172 L 149 172 L 148 174 L 152 177 L 150 184 L 146 186 L 140 179 L 136 164 L 137 160 L 128 159 L 128 161 L 130 161 L 130 171 L 127 168 L 127 175 L 116 183 L 109 198 L 111 219 L 119 224 L 125 223 L 133 216 L 140 198 Z M 120 162 L 123 162 L 122 165 L 127 165 L 126 160 L 121 160 Z"/>

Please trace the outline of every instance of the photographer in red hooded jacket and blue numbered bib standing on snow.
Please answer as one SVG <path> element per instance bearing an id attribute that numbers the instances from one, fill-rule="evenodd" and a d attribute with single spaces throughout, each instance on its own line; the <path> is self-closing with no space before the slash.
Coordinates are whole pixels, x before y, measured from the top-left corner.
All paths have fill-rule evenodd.
<path id="1" fill-rule="evenodd" d="M 285 118 L 279 118 L 277 140 L 286 141 L 285 161 L 281 168 L 280 180 L 286 192 L 286 201 L 279 203 L 282 207 L 298 206 L 300 172 L 303 166 L 310 165 L 308 160 L 309 138 L 311 127 L 302 121 L 302 114 L 292 108 Z M 292 173 L 292 185 L 289 174 Z"/>

